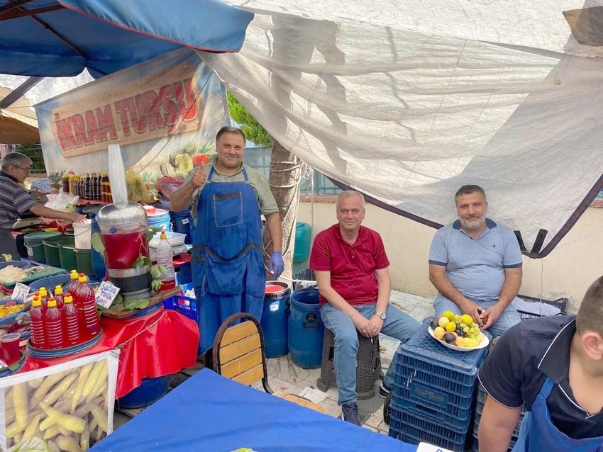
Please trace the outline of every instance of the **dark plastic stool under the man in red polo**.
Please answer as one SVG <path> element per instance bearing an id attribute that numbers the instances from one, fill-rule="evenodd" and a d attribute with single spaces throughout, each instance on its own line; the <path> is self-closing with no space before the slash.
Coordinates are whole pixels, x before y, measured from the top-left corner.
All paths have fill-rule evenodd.
<path id="1" fill-rule="evenodd" d="M 375 381 L 381 375 L 381 356 L 379 337 L 368 338 L 358 333 L 358 363 L 356 365 L 356 394 L 358 400 L 375 397 Z M 333 355 L 335 336 L 331 330 L 324 329 L 321 376 L 316 387 L 326 392 L 331 384 L 337 385 Z"/>

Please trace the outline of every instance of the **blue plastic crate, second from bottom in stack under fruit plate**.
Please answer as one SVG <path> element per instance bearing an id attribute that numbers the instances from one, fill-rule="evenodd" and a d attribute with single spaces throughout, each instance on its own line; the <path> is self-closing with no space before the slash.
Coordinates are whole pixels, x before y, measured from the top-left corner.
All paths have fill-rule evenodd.
<path id="1" fill-rule="evenodd" d="M 392 409 L 413 412 L 454 431 L 467 431 L 472 402 L 473 397 L 458 397 L 414 384 L 409 390 L 402 390 L 402 398 L 392 395 Z"/>

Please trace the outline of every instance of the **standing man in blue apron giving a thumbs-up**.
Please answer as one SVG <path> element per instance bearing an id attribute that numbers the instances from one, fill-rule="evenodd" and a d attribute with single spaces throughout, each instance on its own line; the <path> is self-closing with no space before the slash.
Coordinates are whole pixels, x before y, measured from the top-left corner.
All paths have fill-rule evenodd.
<path id="1" fill-rule="evenodd" d="M 245 135 L 223 127 L 216 135 L 217 159 L 189 172 L 170 196 L 170 210 L 192 206 L 192 273 L 199 300 L 199 349 L 211 349 L 221 323 L 236 312 L 262 317 L 266 271 L 262 220 L 272 240 L 269 271 L 277 279 L 284 269 L 282 224 L 268 181 L 243 164 Z"/>

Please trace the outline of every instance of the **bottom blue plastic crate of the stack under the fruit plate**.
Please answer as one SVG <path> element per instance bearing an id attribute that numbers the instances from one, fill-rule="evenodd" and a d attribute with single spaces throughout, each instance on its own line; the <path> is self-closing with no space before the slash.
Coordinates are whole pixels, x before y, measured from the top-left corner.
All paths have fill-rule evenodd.
<path id="1" fill-rule="evenodd" d="M 392 407 L 392 418 L 389 422 L 390 433 L 392 429 L 394 432 L 397 431 L 398 434 L 413 436 L 419 441 L 427 441 L 436 446 L 450 448 L 444 446 L 443 442 L 446 441 L 455 445 L 450 449 L 460 448 L 461 451 L 464 451 L 465 441 L 468 439 L 469 422 L 465 422 L 464 431 L 455 431 L 446 428 L 438 421 L 426 419 L 421 414 L 399 411 Z M 437 438 L 437 441 L 433 441 L 433 438 Z"/>

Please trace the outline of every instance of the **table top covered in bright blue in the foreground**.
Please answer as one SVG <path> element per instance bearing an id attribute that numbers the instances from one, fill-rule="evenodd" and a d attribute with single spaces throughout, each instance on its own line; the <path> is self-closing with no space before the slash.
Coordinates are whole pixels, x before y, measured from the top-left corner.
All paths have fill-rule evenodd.
<path id="1" fill-rule="evenodd" d="M 321 414 L 203 369 L 93 452 L 416 452 L 416 446 Z"/>

